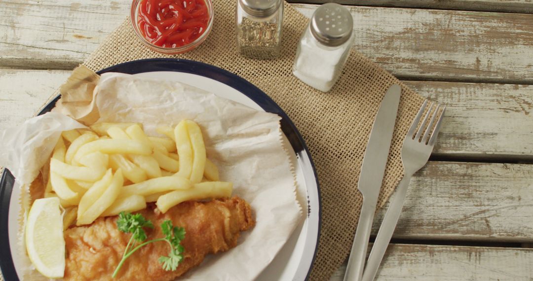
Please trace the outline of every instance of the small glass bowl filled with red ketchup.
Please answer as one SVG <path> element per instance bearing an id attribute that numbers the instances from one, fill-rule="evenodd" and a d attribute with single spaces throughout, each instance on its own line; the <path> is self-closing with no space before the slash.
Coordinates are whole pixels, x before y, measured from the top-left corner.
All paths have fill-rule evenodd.
<path id="1" fill-rule="evenodd" d="M 211 0 L 134 0 L 131 23 L 156 52 L 181 54 L 198 47 L 213 26 Z"/>

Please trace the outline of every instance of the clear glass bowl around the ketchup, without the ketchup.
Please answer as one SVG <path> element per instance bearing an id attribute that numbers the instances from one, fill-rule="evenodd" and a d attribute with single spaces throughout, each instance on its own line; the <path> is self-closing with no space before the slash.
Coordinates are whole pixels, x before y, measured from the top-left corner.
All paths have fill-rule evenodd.
<path id="1" fill-rule="evenodd" d="M 207 22 L 207 28 L 204 31 L 198 39 L 194 40 L 193 42 L 183 45 L 181 47 L 175 47 L 175 48 L 169 48 L 169 47 L 160 47 L 157 45 L 154 45 L 148 41 L 148 39 L 144 38 L 141 31 L 139 30 L 139 24 L 137 23 L 137 16 L 139 14 L 139 5 L 141 4 L 141 0 L 133 0 L 132 7 L 130 11 L 130 18 L 131 18 L 131 24 L 133 27 L 133 30 L 135 31 L 135 35 L 141 40 L 144 45 L 148 46 L 152 50 L 161 53 L 161 54 L 167 54 L 167 55 L 175 55 L 175 54 L 181 54 L 185 52 L 191 51 L 193 48 L 198 47 L 209 35 L 209 32 L 211 32 L 211 29 L 213 27 L 213 3 L 211 0 L 204 0 L 207 6 L 207 12 L 209 13 L 209 21 Z"/>

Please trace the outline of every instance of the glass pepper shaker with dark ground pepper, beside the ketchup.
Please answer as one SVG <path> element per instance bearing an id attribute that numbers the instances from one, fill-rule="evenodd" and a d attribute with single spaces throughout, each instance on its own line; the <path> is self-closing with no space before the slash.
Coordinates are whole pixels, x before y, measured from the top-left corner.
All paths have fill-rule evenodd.
<path id="1" fill-rule="evenodd" d="M 243 56 L 274 59 L 279 56 L 282 0 L 237 0 L 237 49 Z"/>

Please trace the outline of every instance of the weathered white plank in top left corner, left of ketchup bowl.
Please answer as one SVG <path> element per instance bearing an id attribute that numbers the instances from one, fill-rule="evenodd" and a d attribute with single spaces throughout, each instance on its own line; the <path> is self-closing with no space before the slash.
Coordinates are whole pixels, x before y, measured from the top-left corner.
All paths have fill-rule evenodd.
<path id="1" fill-rule="evenodd" d="M 129 15 L 131 1 L 6 0 L 0 65 L 73 69 Z"/>

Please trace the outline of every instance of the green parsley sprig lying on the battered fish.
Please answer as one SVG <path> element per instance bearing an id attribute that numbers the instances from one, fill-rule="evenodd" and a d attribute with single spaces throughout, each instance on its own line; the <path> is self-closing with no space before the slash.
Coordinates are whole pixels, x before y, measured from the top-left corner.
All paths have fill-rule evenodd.
<path id="1" fill-rule="evenodd" d="M 183 246 L 180 243 L 185 238 L 185 229 L 183 227 L 173 226 L 172 221 L 165 220 L 163 224 L 161 224 L 161 230 L 163 231 L 165 237 L 143 242 L 147 239 L 147 235 L 146 232 L 144 232 L 143 227 L 154 228 L 154 225 L 151 221 L 146 220 L 142 214 L 121 212 L 118 215 L 118 230 L 124 233 L 131 233 L 132 236 L 126 245 L 126 249 L 122 255 L 122 260 L 120 260 L 118 263 L 118 266 L 111 277 L 115 278 L 117 276 L 118 271 L 122 267 L 124 261 L 126 261 L 126 259 L 129 258 L 130 255 L 132 255 L 135 251 L 139 250 L 144 245 L 158 241 L 166 241 L 171 247 L 170 253 L 167 257 L 159 257 L 159 262 L 163 264 L 163 269 L 176 270 L 177 266 L 180 264 L 181 260 L 183 259 Z M 138 242 L 143 243 L 135 246 L 135 244 Z"/>

